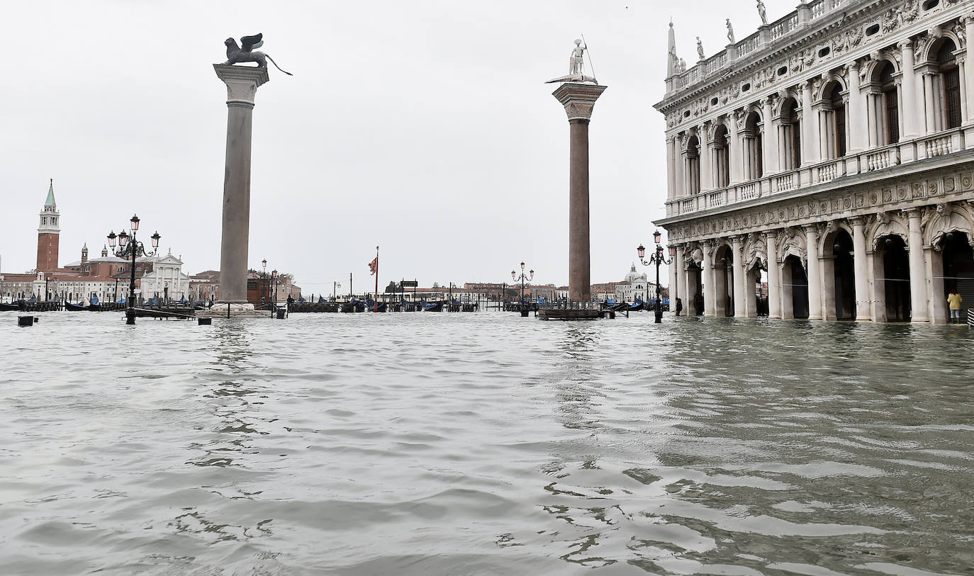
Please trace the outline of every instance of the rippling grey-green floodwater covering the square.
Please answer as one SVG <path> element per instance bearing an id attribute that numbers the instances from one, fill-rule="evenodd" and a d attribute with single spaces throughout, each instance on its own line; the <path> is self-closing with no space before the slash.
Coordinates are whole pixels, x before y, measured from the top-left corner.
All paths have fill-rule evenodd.
<path id="1" fill-rule="evenodd" d="M 0 313 L 0 573 L 974 574 L 974 331 Z"/>

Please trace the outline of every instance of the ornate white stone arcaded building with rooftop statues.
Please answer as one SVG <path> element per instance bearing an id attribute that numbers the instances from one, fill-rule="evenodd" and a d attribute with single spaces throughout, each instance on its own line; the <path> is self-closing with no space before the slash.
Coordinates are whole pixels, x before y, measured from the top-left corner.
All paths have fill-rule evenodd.
<path id="1" fill-rule="evenodd" d="M 803 1 L 690 68 L 670 26 L 656 225 L 687 312 L 945 323 L 949 291 L 974 305 L 970 2 Z"/>

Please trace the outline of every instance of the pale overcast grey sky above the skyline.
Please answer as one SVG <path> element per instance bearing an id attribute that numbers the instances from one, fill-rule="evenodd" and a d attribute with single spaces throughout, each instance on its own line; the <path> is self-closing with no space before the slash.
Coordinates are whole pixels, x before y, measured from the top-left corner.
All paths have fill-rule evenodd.
<path id="1" fill-rule="evenodd" d="M 794 2 L 768 1 L 768 18 Z M 229 14 L 227 14 L 229 12 Z M 504 281 L 522 260 L 568 280 L 568 122 L 545 80 L 584 34 L 608 90 L 590 126 L 592 281 L 652 243 L 666 195 L 667 22 L 696 60 L 759 23 L 754 4 L 636 0 L 6 3 L 0 107 L 3 271 L 34 267 L 55 179 L 60 263 L 133 212 L 184 270 L 219 267 L 228 36 L 264 33 L 282 68 L 257 91 L 249 262 L 305 293 L 332 281 Z M 588 60 L 586 59 L 586 69 Z"/>

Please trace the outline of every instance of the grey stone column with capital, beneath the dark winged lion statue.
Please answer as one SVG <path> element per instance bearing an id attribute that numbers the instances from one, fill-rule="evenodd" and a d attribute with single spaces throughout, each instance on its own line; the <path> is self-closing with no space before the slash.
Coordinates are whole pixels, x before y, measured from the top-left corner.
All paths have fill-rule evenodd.
<path id="1" fill-rule="evenodd" d="M 223 177 L 220 302 L 246 305 L 253 105 L 257 88 L 266 84 L 270 78 L 267 68 L 213 64 L 213 69 L 217 78 L 227 85 L 227 154 Z"/>

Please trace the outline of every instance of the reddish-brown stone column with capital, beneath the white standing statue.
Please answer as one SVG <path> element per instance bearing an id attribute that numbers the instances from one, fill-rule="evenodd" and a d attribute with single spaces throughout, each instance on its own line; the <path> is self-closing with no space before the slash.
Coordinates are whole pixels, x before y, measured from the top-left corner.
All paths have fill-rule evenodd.
<path id="1" fill-rule="evenodd" d="M 605 86 L 566 82 L 551 94 L 565 107 L 569 134 L 568 297 L 591 300 L 588 237 L 588 122 Z"/>

